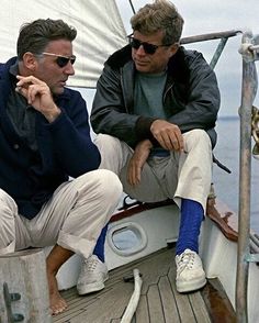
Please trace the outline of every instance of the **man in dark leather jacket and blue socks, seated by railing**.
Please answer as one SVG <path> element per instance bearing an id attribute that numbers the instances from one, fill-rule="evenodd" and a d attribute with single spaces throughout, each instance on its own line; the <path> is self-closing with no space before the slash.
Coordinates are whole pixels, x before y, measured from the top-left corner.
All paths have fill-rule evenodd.
<path id="1" fill-rule="evenodd" d="M 181 213 L 177 290 L 202 288 L 199 234 L 212 179 L 219 108 L 215 74 L 201 53 L 179 45 L 183 19 L 167 0 L 131 20 L 130 44 L 105 62 L 91 124 L 105 168 L 144 202 L 172 199 Z"/>

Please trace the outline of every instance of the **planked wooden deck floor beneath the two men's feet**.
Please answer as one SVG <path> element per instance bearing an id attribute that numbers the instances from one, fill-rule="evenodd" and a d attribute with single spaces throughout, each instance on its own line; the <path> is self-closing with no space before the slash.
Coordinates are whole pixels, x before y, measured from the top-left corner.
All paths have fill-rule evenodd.
<path id="1" fill-rule="evenodd" d="M 142 296 L 132 323 L 234 323 L 235 313 L 217 280 L 210 280 L 198 292 L 177 292 L 173 258 L 173 248 L 162 249 L 113 269 L 105 289 L 98 293 L 79 297 L 76 288 L 63 291 L 69 308 L 55 316 L 54 322 L 119 323 L 134 290 L 134 283 L 124 282 L 123 278 L 138 268 L 143 276 Z"/>

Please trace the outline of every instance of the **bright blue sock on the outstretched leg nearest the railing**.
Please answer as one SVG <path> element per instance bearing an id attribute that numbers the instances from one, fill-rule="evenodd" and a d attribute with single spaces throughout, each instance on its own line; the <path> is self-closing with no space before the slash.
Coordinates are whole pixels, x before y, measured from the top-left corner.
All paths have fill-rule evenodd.
<path id="1" fill-rule="evenodd" d="M 182 254 L 187 248 L 199 253 L 199 235 L 203 214 L 203 208 L 199 202 L 182 199 L 177 255 Z"/>

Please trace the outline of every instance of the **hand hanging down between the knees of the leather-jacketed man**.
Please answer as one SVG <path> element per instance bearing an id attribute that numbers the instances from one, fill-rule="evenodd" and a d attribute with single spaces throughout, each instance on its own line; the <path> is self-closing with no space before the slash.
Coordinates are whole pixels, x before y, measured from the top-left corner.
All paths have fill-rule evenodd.
<path id="1" fill-rule="evenodd" d="M 130 185 L 135 186 L 140 182 L 142 168 L 146 163 L 153 144 L 149 140 L 139 142 L 134 151 L 127 168 L 127 181 Z"/>

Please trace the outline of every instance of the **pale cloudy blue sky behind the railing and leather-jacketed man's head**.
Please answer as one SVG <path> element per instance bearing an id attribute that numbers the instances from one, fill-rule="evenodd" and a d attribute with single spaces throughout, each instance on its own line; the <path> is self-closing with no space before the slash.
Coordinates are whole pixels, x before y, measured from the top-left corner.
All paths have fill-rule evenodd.
<path id="1" fill-rule="evenodd" d="M 136 10 L 149 1 L 132 0 Z M 183 36 L 198 35 L 228 30 L 251 30 L 259 34 L 259 0 L 174 0 L 184 19 Z M 132 10 L 127 0 L 117 1 L 126 31 L 131 33 L 130 19 Z M 221 116 L 238 115 L 241 92 L 241 56 L 238 54 L 241 36 L 229 38 L 223 56 L 215 68 L 222 93 Z M 207 60 L 211 59 L 214 45 L 192 44 L 189 48 L 201 51 Z M 257 69 L 259 62 L 257 62 Z M 255 103 L 259 107 L 259 94 Z"/>

